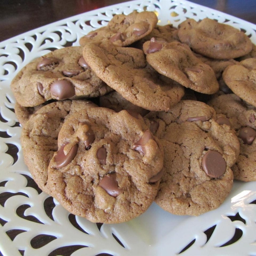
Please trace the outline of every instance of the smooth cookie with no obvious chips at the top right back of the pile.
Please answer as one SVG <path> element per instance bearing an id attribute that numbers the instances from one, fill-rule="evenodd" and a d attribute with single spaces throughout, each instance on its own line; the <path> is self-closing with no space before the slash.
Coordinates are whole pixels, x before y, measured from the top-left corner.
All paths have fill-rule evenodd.
<path id="1" fill-rule="evenodd" d="M 244 32 L 209 18 L 198 22 L 187 19 L 178 29 L 178 37 L 182 43 L 210 58 L 238 58 L 248 54 L 253 47 Z"/>

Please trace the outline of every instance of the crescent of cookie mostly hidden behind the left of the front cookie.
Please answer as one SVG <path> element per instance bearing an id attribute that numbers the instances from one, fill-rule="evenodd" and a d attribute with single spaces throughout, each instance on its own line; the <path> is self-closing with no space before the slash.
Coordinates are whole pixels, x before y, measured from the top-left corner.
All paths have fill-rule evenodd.
<path id="1" fill-rule="evenodd" d="M 47 168 L 52 155 L 58 150 L 58 133 L 63 122 L 76 111 L 96 107 L 82 100 L 52 102 L 30 116 L 21 132 L 21 145 L 26 166 L 39 188 L 49 194 Z"/>

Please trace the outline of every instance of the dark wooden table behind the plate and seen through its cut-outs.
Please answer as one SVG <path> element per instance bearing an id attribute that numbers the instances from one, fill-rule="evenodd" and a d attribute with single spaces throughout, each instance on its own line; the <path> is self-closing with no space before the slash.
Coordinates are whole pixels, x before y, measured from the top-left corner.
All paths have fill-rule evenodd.
<path id="1" fill-rule="evenodd" d="M 0 41 L 12 38 L 23 32 L 47 25 L 49 23 L 71 17 L 83 12 L 88 12 L 93 9 L 110 6 L 117 3 L 124 3 L 124 0 L 0 0 Z M 198 3 L 202 6 L 207 6 L 212 9 L 239 17 L 256 24 L 256 0 L 191 0 L 193 3 Z M 1 134 L 0 134 L 1 135 Z M 11 155 L 17 154 L 17 148 L 9 148 Z M 29 186 L 35 187 L 34 181 L 27 177 Z M 1 184 L 0 184 L 1 185 Z M 4 184 L 2 184 L 4 186 Z M 9 197 L 9 195 L 0 196 L 0 204 Z M 52 201 L 49 201 L 49 211 L 54 207 Z M 25 209 L 20 209 L 20 214 Z M 72 221 L 72 218 L 71 218 Z M 1 223 L 0 224 L 4 224 Z M 99 224 L 100 227 L 100 224 Z M 15 232 L 10 232 L 9 237 L 15 236 Z M 38 238 L 35 241 L 37 244 L 44 244 L 44 237 Z M 49 241 L 48 241 L 49 242 Z M 78 249 L 78 248 L 77 248 Z M 24 251 L 20 251 L 23 255 Z M 70 255 L 72 248 L 63 251 L 52 252 L 50 255 Z M 1 256 L 0 252 L 0 256 Z M 103 255 L 109 255 L 102 253 Z"/>

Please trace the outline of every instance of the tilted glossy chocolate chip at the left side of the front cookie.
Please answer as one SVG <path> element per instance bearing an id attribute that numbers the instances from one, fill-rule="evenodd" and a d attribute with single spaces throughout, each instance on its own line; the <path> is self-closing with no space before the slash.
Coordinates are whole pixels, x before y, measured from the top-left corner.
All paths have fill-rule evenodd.
<path id="1" fill-rule="evenodd" d="M 67 153 L 67 155 L 65 155 L 64 153 L 64 147 L 67 145 L 68 143 L 64 144 L 61 146 L 61 148 L 58 150 L 57 154 L 55 155 L 55 163 L 56 163 L 56 168 L 62 168 L 67 166 L 69 163 L 72 162 L 72 160 L 75 158 L 76 156 L 76 152 L 78 149 L 78 145 L 74 145 L 70 151 Z"/>

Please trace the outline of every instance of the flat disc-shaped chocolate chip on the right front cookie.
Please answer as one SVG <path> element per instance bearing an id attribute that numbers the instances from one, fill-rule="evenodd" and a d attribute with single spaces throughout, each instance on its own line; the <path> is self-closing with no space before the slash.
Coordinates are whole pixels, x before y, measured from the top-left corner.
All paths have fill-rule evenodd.
<path id="1" fill-rule="evenodd" d="M 204 172 L 211 178 L 221 177 L 226 171 L 226 166 L 225 159 L 217 151 L 208 151 L 202 160 Z"/>

